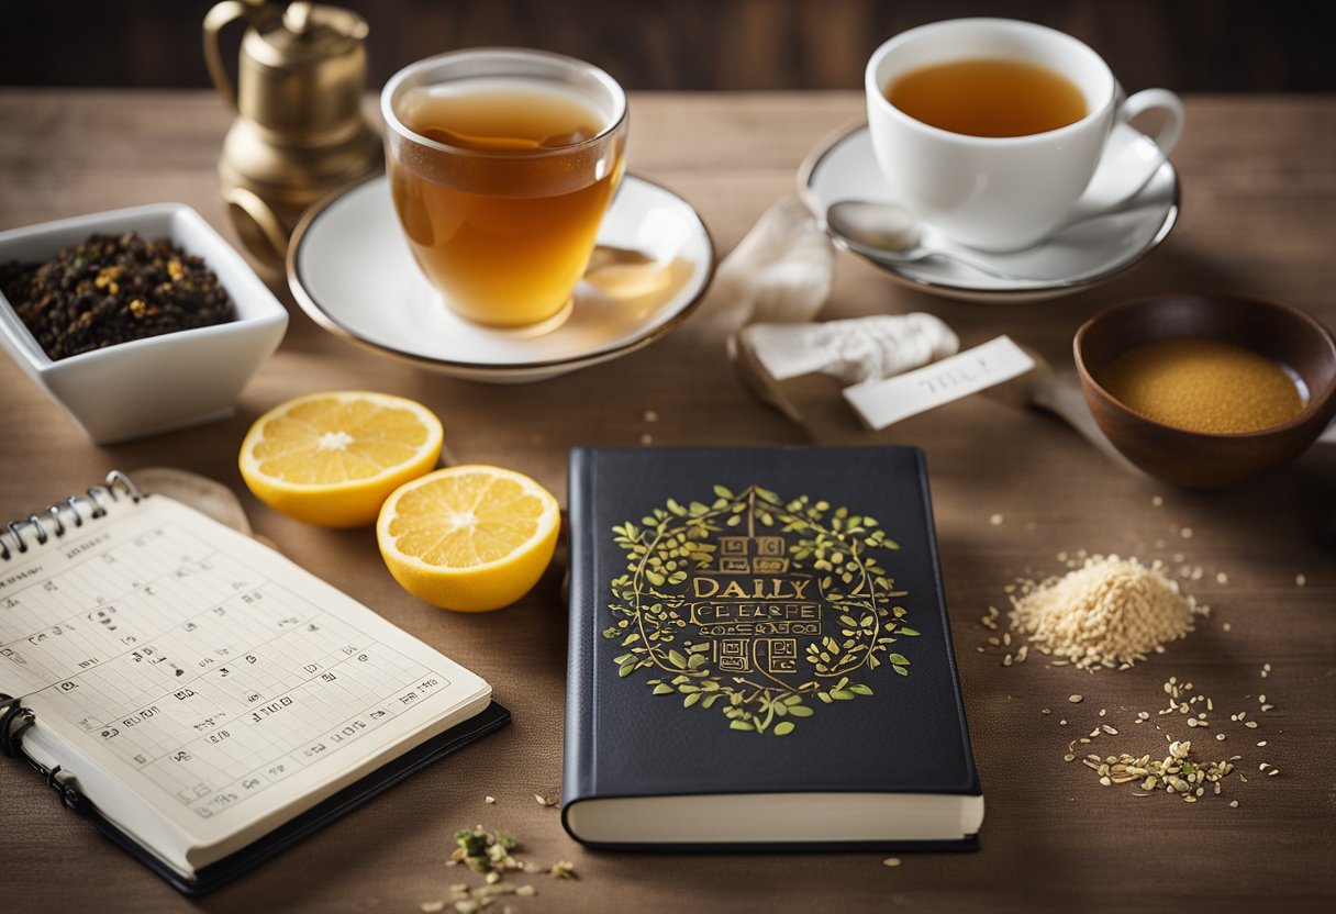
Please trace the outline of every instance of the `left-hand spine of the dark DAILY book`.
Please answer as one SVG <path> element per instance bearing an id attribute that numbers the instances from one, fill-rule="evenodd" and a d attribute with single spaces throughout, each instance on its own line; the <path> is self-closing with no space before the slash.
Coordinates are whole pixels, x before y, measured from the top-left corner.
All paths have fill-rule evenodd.
<path id="1" fill-rule="evenodd" d="M 570 804 L 593 794 L 593 639 L 597 621 L 593 581 L 593 454 L 570 450 L 566 476 L 566 522 L 569 536 L 569 651 L 566 655 L 565 767 L 561 784 L 561 820 L 566 824 Z M 572 835 L 573 836 L 573 835 Z"/>

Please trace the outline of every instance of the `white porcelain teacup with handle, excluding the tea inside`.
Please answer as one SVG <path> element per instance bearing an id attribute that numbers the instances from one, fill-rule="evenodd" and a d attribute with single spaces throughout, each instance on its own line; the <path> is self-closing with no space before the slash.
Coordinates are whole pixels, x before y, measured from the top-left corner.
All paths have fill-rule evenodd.
<path id="1" fill-rule="evenodd" d="M 950 61 L 1022 60 L 1070 80 L 1085 96 L 1075 123 L 1025 136 L 971 136 L 915 120 L 886 98 L 900 76 Z M 1161 154 L 1120 120 L 1158 108 L 1162 126 L 1152 138 L 1168 154 L 1182 134 L 1182 102 L 1168 90 L 1124 98 L 1108 64 L 1062 32 L 1011 19 L 955 19 L 896 35 L 867 61 L 867 123 L 882 174 L 921 219 L 962 245 L 989 251 L 1030 247 L 1071 218 L 1073 207 L 1105 156 L 1098 207 L 1134 195 L 1164 163 Z M 1152 150 L 1153 152 L 1153 150 Z M 1092 188 L 1096 192 L 1096 188 Z M 1093 208 L 1093 207 L 1090 207 Z"/>

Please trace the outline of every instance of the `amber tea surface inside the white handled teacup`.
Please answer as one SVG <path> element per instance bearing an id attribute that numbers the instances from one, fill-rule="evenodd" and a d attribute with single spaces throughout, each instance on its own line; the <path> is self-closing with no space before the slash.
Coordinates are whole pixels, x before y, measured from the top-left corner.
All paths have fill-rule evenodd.
<path id="1" fill-rule="evenodd" d="M 1089 114 L 1066 76 L 1023 60 L 954 60 L 912 69 L 886 100 L 915 120 L 969 136 L 1029 136 Z"/>

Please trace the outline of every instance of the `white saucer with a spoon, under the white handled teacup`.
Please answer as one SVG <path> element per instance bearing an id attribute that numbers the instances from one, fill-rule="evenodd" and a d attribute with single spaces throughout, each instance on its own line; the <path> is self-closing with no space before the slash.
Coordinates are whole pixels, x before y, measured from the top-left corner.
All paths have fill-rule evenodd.
<path id="1" fill-rule="evenodd" d="M 1114 130 L 1130 134 L 1116 138 L 1120 142 L 1150 144 L 1148 154 L 1158 155 L 1153 140 L 1133 127 L 1118 124 Z M 1097 182 L 1098 176 L 1092 179 L 1092 186 Z M 899 202 L 882 179 L 866 126 L 812 154 L 799 171 L 798 191 L 816 216 L 818 224 L 844 250 L 848 249 L 840 235 L 826 224 L 826 210 L 832 203 Z M 1077 207 L 1081 207 L 1079 202 Z M 914 263 L 891 263 L 871 257 L 864 259 L 896 279 L 949 298 L 1033 302 L 1069 295 L 1122 273 L 1153 251 L 1169 235 L 1177 219 L 1178 175 L 1165 159 L 1150 182 L 1130 200 L 1106 214 L 1074 223 L 1034 247 L 1011 254 L 961 249 L 963 255 L 1026 279 L 999 279 L 937 257 Z M 947 253 L 957 247 L 935 235 L 931 228 L 925 231 L 925 242 Z"/>

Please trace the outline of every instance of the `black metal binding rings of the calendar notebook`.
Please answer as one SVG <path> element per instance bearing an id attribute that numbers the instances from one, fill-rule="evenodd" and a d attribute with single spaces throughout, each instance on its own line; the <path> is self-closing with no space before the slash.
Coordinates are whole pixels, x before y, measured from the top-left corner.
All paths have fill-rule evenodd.
<path id="1" fill-rule="evenodd" d="M 107 473 L 102 485 L 91 485 L 87 494 L 72 494 L 64 501 L 56 501 L 39 513 L 23 520 L 9 521 L 0 526 L 0 561 L 8 561 L 15 555 L 23 555 L 32 548 L 28 537 L 45 545 L 52 537 L 60 539 L 65 530 L 80 528 L 87 521 L 106 517 L 108 501 L 115 504 L 122 498 L 138 502 L 143 494 L 128 476 L 120 470 Z M 87 514 L 87 516 L 86 516 Z M 67 525 L 68 520 L 68 525 Z M 31 708 L 23 704 L 23 696 L 0 692 L 0 752 L 9 758 L 25 758 L 23 732 L 37 719 Z M 71 810 L 84 811 L 88 800 L 73 786 L 73 778 L 57 764 L 47 768 L 33 759 L 28 763 L 41 774 L 47 786 L 60 795 L 60 802 Z"/>

